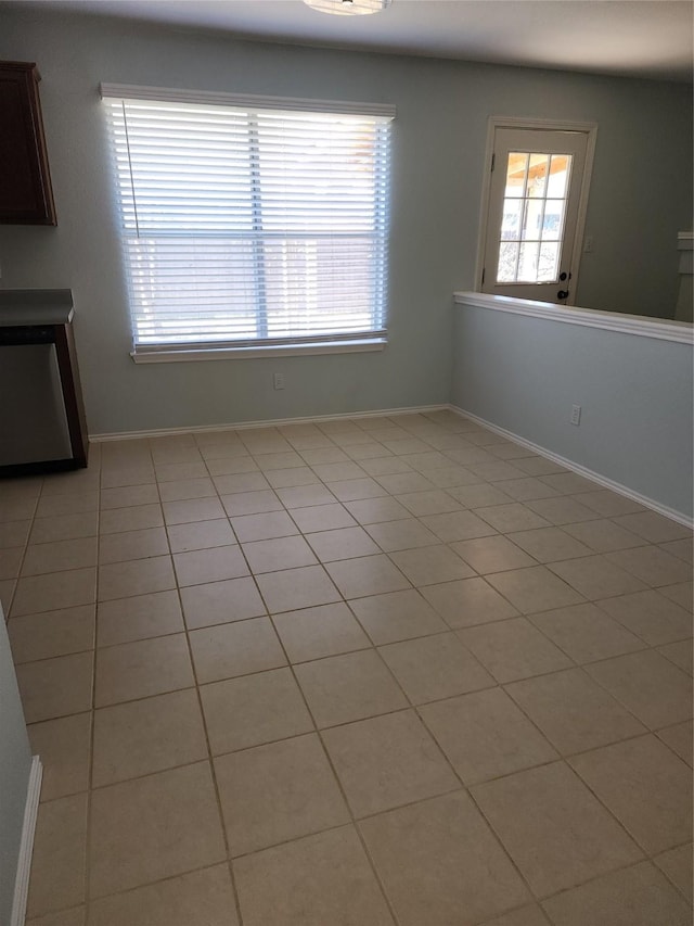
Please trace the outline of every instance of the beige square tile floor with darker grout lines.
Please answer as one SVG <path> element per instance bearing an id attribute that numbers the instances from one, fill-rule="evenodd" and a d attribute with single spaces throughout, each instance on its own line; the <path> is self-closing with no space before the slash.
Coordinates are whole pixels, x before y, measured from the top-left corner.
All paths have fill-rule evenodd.
<path id="1" fill-rule="evenodd" d="M 692 538 L 452 413 L 0 484 L 31 926 L 684 926 Z"/>

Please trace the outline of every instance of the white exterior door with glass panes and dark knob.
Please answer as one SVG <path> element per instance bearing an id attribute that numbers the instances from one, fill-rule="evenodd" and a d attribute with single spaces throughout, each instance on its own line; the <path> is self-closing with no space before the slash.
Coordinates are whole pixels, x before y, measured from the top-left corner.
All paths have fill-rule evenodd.
<path id="1" fill-rule="evenodd" d="M 573 303 L 590 131 L 496 126 L 481 291 Z"/>

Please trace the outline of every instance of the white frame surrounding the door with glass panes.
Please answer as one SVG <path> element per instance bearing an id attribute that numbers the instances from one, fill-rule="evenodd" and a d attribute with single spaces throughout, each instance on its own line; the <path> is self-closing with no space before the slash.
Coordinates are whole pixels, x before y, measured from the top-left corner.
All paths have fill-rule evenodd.
<path id="1" fill-rule="evenodd" d="M 593 173 L 593 161 L 595 156 L 597 123 L 564 122 L 563 119 L 522 118 L 519 116 L 489 116 L 489 119 L 487 120 L 487 147 L 485 150 L 481 203 L 479 207 L 477 261 L 475 264 L 475 292 L 481 292 L 481 275 L 485 268 L 485 245 L 487 241 L 487 218 L 489 215 L 489 192 L 491 189 L 491 160 L 494 151 L 494 134 L 498 128 L 544 129 L 547 131 L 579 131 L 587 136 L 586 165 L 583 167 L 583 179 L 581 182 L 581 190 L 578 200 L 576 233 L 574 236 L 574 251 L 571 253 L 571 277 L 574 284 L 569 289 L 569 296 L 565 303 L 566 305 L 574 305 L 576 284 L 578 283 L 578 271 L 580 269 L 581 254 L 583 253 L 583 234 L 586 231 L 588 196 L 590 192 L 590 181 Z"/>

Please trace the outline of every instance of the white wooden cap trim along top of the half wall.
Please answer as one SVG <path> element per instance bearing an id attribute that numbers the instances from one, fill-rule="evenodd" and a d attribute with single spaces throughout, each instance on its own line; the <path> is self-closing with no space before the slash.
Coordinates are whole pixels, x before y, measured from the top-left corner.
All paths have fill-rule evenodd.
<path id="1" fill-rule="evenodd" d="M 489 293 L 458 292 L 453 293 L 453 299 L 458 305 L 472 305 L 475 308 L 489 308 L 513 315 L 528 315 L 534 318 L 542 318 L 545 321 L 563 321 L 567 325 L 579 325 L 587 328 L 603 328 L 606 331 L 619 331 L 622 334 L 637 334 L 641 338 L 655 338 L 660 341 L 676 341 L 682 344 L 694 343 L 694 328 L 689 321 L 646 318 L 641 315 L 625 315 L 621 312 L 600 312 L 594 308 L 534 302 Z"/>

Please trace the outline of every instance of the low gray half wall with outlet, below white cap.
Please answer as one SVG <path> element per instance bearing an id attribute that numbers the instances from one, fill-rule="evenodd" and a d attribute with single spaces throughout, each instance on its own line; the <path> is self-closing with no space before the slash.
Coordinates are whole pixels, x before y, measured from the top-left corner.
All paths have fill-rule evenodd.
<path id="1" fill-rule="evenodd" d="M 467 305 L 454 340 L 459 408 L 692 516 L 691 345 Z"/>

